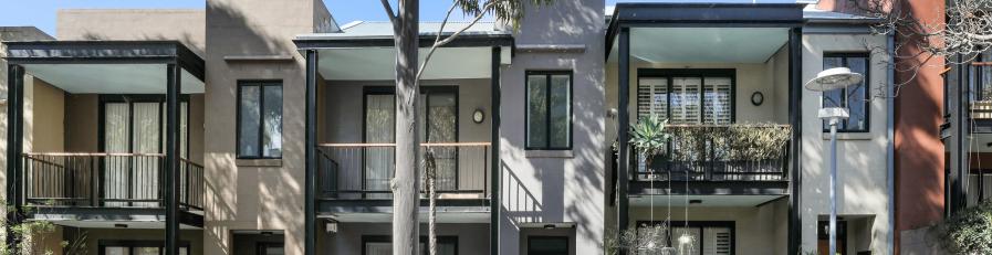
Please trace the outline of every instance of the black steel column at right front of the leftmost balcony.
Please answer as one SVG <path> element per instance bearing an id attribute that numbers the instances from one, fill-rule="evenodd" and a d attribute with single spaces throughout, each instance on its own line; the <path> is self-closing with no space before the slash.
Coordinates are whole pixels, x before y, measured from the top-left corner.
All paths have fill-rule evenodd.
<path id="1" fill-rule="evenodd" d="M 179 93 L 182 91 L 182 71 L 177 64 L 168 64 L 166 75 L 165 254 L 179 255 Z"/>

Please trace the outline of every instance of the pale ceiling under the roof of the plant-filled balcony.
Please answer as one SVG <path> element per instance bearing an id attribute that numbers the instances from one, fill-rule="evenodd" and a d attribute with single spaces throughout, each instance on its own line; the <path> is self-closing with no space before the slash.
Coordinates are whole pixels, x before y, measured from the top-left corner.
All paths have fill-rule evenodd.
<path id="1" fill-rule="evenodd" d="M 764 63 L 786 42 L 786 28 L 630 29 L 631 59 L 655 63 Z"/>

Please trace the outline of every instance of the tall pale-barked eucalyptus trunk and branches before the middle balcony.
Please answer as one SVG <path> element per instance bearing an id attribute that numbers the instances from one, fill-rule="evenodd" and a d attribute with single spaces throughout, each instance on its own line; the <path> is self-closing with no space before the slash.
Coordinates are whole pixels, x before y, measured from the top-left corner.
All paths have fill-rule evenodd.
<path id="1" fill-rule="evenodd" d="M 393 24 L 394 46 L 396 47 L 396 173 L 390 182 L 393 190 L 393 254 L 417 255 L 419 253 L 419 185 L 418 156 L 420 155 L 420 115 L 419 81 L 427 63 L 438 47 L 455 41 L 464 31 L 482 19 L 490 17 L 500 22 L 508 22 L 519 28 L 524 14 L 524 7 L 550 3 L 553 0 L 452 0 L 451 7 L 441 22 L 434 44 L 430 45 L 425 61 L 418 65 L 420 39 L 420 2 L 419 0 L 397 0 L 394 11 L 389 0 L 380 0 L 383 9 Z M 471 17 L 471 22 L 456 30 L 443 33 L 448 19 L 460 11 Z M 431 223 L 432 224 L 432 223 Z M 493 226 L 495 227 L 495 226 Z M 434 233 L 431 233 L 434 236 Z M 431 238 L 434 240 L 434 238 Z M 436 242 L 431 242 L 436 243 Z M 435 248 L 431 247 L 434 254 Z"/>

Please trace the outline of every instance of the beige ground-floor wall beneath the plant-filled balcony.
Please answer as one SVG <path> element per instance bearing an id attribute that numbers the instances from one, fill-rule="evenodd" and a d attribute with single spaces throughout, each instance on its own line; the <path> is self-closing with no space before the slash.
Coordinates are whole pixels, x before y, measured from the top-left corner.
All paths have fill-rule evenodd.
<path id="1" fill-rule="evenodd" d="M 656 200 L 655 221 L 661 222 L 669 216 L 664 196 Z M 675 200 L 681 196 L 672 196 Z M 637 222 L 651 221 L 650 206 L 630 208 L 630 226 Z M 734 254 L 739 255 L 786 255 L 787 238 L 783 226 L 789 224 L 789 201 L 781 199 L 762 206 L 683 206 L 671 208 L 671 225 L 685 224 L 689 221 L 732 221 L 734 222 Z"/>

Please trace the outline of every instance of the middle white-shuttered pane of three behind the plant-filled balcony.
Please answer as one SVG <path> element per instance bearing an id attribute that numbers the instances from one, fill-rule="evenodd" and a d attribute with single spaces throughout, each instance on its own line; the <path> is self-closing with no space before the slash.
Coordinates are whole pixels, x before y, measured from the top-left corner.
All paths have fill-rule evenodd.
<path id="1" fill-rule="evenodd" d="M 672 78 L 671 123 L 699 123 L 699 89 L 702 79 L 698 77 Z"/>

